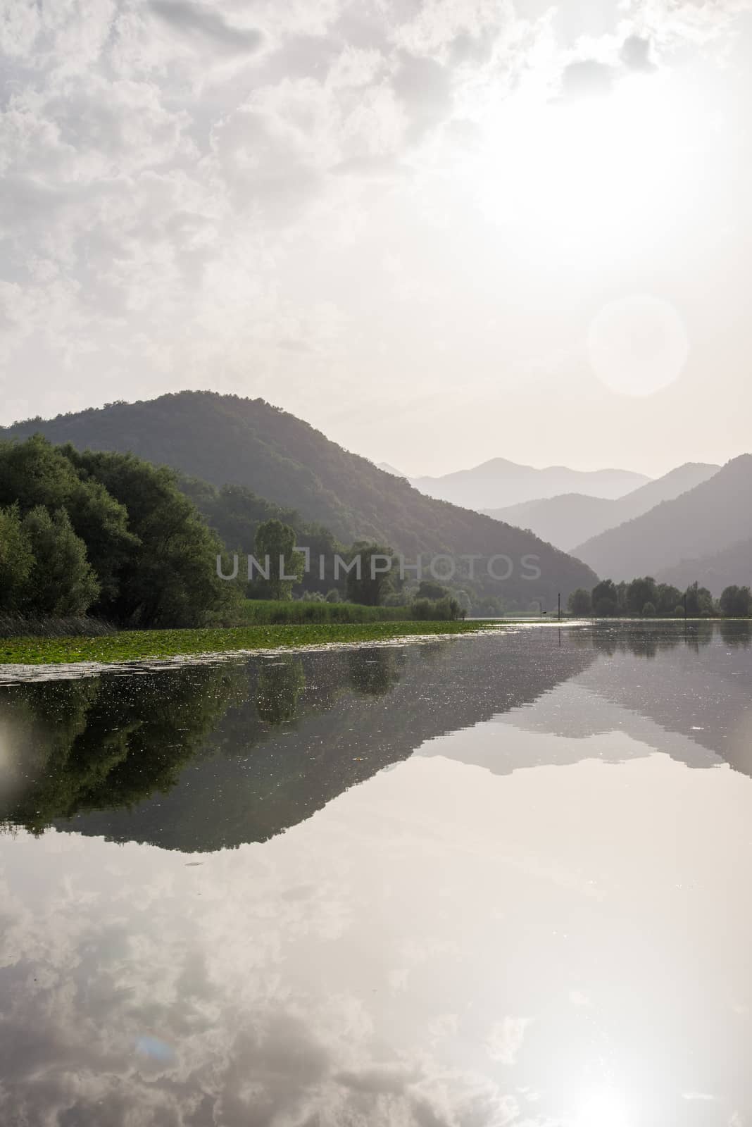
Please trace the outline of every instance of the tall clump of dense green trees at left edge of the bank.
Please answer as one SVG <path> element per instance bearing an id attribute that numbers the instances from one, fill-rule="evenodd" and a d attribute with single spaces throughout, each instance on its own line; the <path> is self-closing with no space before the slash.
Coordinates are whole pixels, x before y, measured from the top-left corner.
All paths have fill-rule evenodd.
<path id="1" fill-rule="evenodd" d="M 199 627 L 230 614 L 217 535 L 176 474 L 35 435 L 0 444 L 0 611 Z"/>

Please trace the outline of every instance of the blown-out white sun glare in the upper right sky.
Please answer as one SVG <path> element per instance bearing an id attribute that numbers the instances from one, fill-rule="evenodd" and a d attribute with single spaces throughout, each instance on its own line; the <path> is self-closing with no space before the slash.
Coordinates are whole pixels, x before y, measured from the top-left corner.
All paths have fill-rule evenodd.
<path id="1" fill-rule="evenodd" d="M 532 254 L 607 256 L 645 243 L 692 190 L 691 117 L 670 74 L 621 79 L 608 95 L 510 98 L 489 118 L 472 171 L 478 206 Z"/>

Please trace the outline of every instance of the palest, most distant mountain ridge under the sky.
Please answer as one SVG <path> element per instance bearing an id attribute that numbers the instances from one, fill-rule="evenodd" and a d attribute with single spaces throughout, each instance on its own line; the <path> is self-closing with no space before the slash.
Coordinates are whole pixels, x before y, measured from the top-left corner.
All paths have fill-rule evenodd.
<path id="1" fill-rule="evenodd" d="M 629 470 L 570 470 L 549 465 L 536 470 L 505 458 L 493 458 L 472 470 L 458 470 L 440 478 L 412 478 L 421 492 L 450 500 L 465 508 L 489 509 L 558 494 L 580 492 L 589 497 L 623 497 L 646 485 L 650 478 Z"/>

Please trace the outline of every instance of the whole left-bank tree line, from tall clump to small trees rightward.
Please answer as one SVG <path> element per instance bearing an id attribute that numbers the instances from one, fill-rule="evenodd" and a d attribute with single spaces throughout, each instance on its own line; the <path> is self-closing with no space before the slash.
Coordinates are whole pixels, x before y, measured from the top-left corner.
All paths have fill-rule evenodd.
<path id="1" fill-rule="evenodd" d="M 269 557 L 268 577 L 220 577 L 217 558 L 226 560 L 233 535 L 252 536 L 257 558 Z M 325 557 L 323 577 L 315 570 L 304 577 L 298 536 L 312 556 Z M 248 540 L 243 547 L 248 551 Z M 242 556 L 241 547 L 235 552 Z M 360 574 L 341 577 L 339 585 L 330 575 L 335 552 L 361 557 Z M 232 624 L 241 619 L 244 597 L 289 600 L 294 588 L 310 598 L 409 605 L 415 618 L 451 619 L 466 610 L 437 585 L 403 589 L 393 575 L 371 575 L 376 554 L 391 551 L 367 542 L 346 548 L 326 529 L 305 525 L 248 489 L 217 490 L 133 454 L 54 446 L 42 435 L 0 443 L 6 619 L 91 615 L 126 629 Z"/>

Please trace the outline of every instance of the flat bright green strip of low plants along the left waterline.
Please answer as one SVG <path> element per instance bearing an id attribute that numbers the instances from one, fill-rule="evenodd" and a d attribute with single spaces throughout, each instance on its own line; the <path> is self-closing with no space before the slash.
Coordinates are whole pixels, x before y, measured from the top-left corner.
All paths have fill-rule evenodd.
<path id="1" fill-rule="evenodd" d="M 0 639 L 0 665 L 59 665 L 72 662 L 108 664 L 288 646 L 393 641 L 414 636 L 472 633 L 487 625 L 495 627 L 498 623 L 310 623 L 204 630 L 129 630 L 101 638 L 3 638 Z"/>

